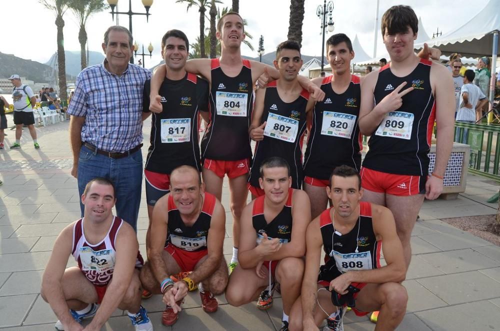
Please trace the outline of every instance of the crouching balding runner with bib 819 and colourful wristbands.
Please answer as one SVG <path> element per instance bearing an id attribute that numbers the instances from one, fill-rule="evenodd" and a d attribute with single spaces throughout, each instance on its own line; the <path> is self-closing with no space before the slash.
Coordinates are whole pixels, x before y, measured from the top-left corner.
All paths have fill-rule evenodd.
<path id="1" fill-rule="evenodd" d="M 196 285 L 203 310 L 217 310 L 213 294 L 222 293 L 227 285 L 222 257 L 225 213 L 215 196 L 204 191 L 196 168 L 181 165 L 172 170 L 170 193 L 154 205 L 149 233 L 140 280 L 146 290 L 163 293 L 163 325 L 177 321 L 184 296 Z M 172 280 L 174 274 L 180 276 Z"/>

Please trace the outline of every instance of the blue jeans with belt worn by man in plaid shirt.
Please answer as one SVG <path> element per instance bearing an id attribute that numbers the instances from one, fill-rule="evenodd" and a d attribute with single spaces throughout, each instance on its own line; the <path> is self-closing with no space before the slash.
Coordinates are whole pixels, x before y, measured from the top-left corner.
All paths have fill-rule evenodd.
<path id="1" fill-rule="evenodd" d="M 142 153 L 139 150 L 122 158 L 97 154 L 81 146 L 78 158 L 78 192 L 95 177 L 110 179 L 116 188 L 116 214 L 136 230 L 142 185 Z M 81 216 L 84 205 L 80 200 Z"/>

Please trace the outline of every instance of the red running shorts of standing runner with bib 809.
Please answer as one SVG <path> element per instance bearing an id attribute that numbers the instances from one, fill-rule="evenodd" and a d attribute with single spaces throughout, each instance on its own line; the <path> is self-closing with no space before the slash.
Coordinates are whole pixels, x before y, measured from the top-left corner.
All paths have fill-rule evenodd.
<path id="1" fill-rule="evenodd" d="M 410 196 L 425 193 L 427 176 L 393 174 L 365 167 L 359 172 L 361 186 L 369 191 L 396 196 Z"/>

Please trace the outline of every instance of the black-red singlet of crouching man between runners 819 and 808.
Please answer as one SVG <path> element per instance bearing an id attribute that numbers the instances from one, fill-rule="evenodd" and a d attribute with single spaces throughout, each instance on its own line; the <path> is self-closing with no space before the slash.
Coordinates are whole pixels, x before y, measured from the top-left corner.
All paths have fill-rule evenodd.
<path id="1" fill-rule="evenodd" d="M 283 206 L 283 209 L 267 223 L 264 217 L 264 198 L 265 195 L 261 195 L 253 201 L 252 209 L 252 224 L 255 232 L 257 232 L 257 244 L 262 240 L 263 233 L 267 235 L 269 239 L 279 238 L 279 242 L 287 243 L 291 241 L 291 196 L 293 193 L 293 188 L 288 189 L 288 198 Z"/>

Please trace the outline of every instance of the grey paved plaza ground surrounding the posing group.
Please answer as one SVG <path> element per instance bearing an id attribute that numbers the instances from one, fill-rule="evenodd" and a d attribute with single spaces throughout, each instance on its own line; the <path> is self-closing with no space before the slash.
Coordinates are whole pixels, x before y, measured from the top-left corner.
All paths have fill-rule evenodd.
<path id="1" fill-rule="evenodd" d="M 145 155 L 149 125 L 144 125 Z M 76 180 L 71 177 L 68 122 L 37 129 L 41 149 L 35 150 L 27 130 L 21 149 L 0 150 L 0 328 L 53 330 L 56 317 L 39 295 L 41 274 L 57 233 L 79 218 Z M 13 142 L 7 130 L 5 145 Z M 7 139 L 8 138 L 8 139 Z M 456 200 L 425 201 L 411 239 L 413 257 L 404 286 L 409 294 L 407 314 L 399 330 L 500 329 L 500 247 L 452 227 L 440 219 L 496 213 L 485 202 L 498 191 L 493 181 L 468 175 L 467 189 Z M 222 203 L 228 210 L 225 184 Z M 137 237 L 145 254 L 147 210 L 142 194 Z M 232 217 L 226 213 L 224 254 L 230 258 Z M 68 265 L 75 265 L 72 258 Z M 173 327 L 160 323 L 159 295 L 143 301 L 156 330 L 275 330 L 281 323 L 281 300 L 260 311 L 253 304 L 228 305 L 223 296 L 217 312 L 206 314 L 197 293 L 189 294 Z M 352 312 L 345 331 L 372 330 L 367 317 Z M 103 328 L 132 330 L 117 310 Z"/>

